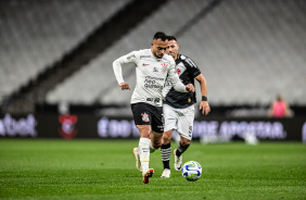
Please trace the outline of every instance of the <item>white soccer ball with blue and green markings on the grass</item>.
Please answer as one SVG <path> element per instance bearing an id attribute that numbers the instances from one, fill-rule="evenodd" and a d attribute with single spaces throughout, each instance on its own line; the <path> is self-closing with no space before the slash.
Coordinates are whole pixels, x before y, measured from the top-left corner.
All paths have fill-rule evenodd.
<path id="1" fill-rule="evenodd" d="M 188 161 L 183 164 L 181 168 L 181 175 L 188 182 L 195 182 L 202 175 L 202 166 L 195 161 Z"/>

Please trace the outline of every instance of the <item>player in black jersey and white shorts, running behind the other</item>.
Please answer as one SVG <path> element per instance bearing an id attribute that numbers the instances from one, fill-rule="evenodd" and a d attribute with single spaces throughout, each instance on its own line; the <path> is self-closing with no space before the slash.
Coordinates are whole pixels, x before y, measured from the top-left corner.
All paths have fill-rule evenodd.
<path id="1" fill-rule="evenodd" d="M 178 53 L 179 45 L 174 36 L 168 36 L 168 48 L 166 53 L 171 55 L 176 61 L 177 74 L 180 80 L 186 84 L 194 85 L 196 79 L 201 86 L 202 101 L 200 110 L 202 114 L 207 115 L 211 111 L 207 102 L 207 86 L 205 77 L 202 75 L 200 68 L 186 55 Z M 165 117 L 165 133 L 162 139 L 162 161 L 164 164 L 164 172 L 161 177 L 170 177 L 170 153 L 171 153 L 171 135 L 176 129 L 180 136 L 178 148 L 174 150 L 175 154 L 175 170 L 181 170 L 182 153 L 190 146 L 192 139 L 193 120 L 194 120 L 194 103 L 196 102 L 195 92 L 182 93 L 176 91 L 168 79 L 163 90 L 164 96 L 164 117 Z"/>

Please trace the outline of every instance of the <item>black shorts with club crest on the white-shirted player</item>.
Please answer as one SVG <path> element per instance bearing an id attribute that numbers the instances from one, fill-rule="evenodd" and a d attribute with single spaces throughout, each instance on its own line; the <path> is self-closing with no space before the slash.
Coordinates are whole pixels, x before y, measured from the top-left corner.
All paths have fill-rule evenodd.
<path id="1" fill-rule="evenodd" d="M 153 132 L 164 133 L 163 107 L 133 103 L 131 104 L 131 111 L 136 125 L 151 125 Z"/>

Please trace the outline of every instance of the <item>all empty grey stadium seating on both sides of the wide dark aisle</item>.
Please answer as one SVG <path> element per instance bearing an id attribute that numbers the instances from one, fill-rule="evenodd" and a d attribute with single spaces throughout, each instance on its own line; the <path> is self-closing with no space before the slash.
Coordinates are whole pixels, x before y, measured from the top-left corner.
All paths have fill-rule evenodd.
<path id="1" fill-rule="evenodd" d="M 52 70 L 54 62 L 135 2 L 1 1 L 0 103 Z M 47 104 L 128 107 L 132 90 L 120 90 L 112 62 L 150 48 L 154 33 L 163 30 L 177 36 L 180 52 L 203 72 L 212 105 L 267 107 L 282 93 L 290 104 L 306 107 L 305 10 L 303 0 L 165 0 L 137 26 L 122 29 L 123 37 L 89 58 L 76 73 L 52 84 L 40 99 Z M 87 47 L 81 46 L 81 51 Z M 135 75 L 135 66 L 124 66 L 124 78 L 132 87 Z M 200 96 L 197 84 L 196 91 Z"/>

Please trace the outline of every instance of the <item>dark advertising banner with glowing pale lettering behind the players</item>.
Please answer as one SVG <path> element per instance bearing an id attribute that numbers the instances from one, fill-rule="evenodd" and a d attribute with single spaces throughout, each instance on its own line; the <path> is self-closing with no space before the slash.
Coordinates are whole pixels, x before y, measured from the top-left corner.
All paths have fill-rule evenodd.
<path id="1" fill-rule="evenodd" d="M 229 118 L 199 117 L 193 124 L 193 139 L 218 136 L 259 140 L 306 141 L 306 117 Z M 92 114 L 0 116 L 0 137 L 26 138 L 139 138 L 132 118 L 114 118 Z"/>

